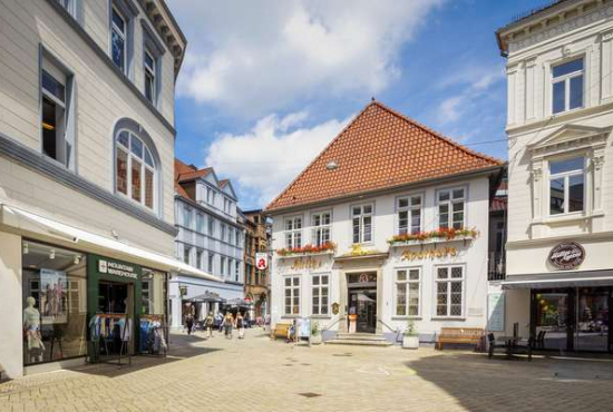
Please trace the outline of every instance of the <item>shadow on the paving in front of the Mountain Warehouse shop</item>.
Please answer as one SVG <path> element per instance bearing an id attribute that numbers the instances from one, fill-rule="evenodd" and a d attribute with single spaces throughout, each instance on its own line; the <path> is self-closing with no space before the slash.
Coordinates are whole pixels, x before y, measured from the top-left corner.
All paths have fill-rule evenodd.
<path id="1" fill-rule="evenodd" d="M 221 351 L 221 349 L 217 347 L 203 347 L 202 344 L 204 342 L 206 342 L 204 337 L 195 334 L 171 334 L 168 353 L 165 357 L 135 355 L 132 356 L 132 364 L 128 364 L 127 357 L 123 357 L 121 364 L 119 365 L 117 364 L 116 357 L 109 356 L 107 357 L 108 363 L 86 364 L 70 367 L 69 370 L 91 375 L 116 377 L 144 369 L 157 367 L 164 364 Z"/>

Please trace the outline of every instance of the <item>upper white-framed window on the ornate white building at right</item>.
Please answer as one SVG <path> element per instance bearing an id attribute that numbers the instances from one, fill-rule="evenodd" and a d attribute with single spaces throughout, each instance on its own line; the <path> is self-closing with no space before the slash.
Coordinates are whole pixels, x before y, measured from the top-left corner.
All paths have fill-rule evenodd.
<path id="1" fill-rule="evenodd" d="M 583 107 L 583 58 L 552 69 L 552 111 L 558 114 Z"/>

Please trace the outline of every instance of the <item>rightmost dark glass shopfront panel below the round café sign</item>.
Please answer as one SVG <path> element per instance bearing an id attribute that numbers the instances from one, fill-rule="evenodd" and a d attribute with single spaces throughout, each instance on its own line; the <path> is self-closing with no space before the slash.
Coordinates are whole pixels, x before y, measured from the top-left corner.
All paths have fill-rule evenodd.
<path id="1" fill-rule="evenodd" d="M 575 350 L 609 351 L 610 288 L 580 288 L 576 294 Z"/>

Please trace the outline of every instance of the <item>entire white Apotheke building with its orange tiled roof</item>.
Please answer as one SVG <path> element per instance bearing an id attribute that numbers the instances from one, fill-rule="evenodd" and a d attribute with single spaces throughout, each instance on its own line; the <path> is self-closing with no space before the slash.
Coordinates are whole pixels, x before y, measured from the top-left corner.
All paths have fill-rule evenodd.
<path id="1" fill-rule="evenodd" d="M 266 208 L 272 323 L 395 342 L 487 324 L 488 215 L 503 164 L 378 101 Z"/>

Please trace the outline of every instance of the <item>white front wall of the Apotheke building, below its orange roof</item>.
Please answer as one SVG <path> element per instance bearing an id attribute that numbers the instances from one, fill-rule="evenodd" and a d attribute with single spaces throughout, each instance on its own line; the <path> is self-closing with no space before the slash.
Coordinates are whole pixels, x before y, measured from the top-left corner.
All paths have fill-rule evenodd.
<path id="1" fill-rule="evenodd" d="M 388 244 L 388 239 L 399 233 L 400 199 L 407 196 L 420 198 L 421 206 L 413 207 L 420 214 L 420 222 L 415 229 L 431 232 L 440 227 L 438 196 L 448 189 L 463 190 L 465 214 L 461 226 L 477 229 L 479 234 L 476 238 L 456 238 L 437 244 L 425 242 L 410 246 Z M 362 226 L 363 230 L 359 236 L 361 239 L 356 238 L 362 242 L 356 244 L 356 216 L 351 215 L 360 206 L 367 206 L 367 213 L 372 212 L 372 226 L 371 229 Z M 360 210 L 364 212 L 364 208 L 361 207 Z M 271 278 L 273 323 L 312 317 L 324 330 L 324 339 L 335 332 L 347 332 L 353 286 L 358 286 L 358 290 L 360 286 L 353 281 L 359 279 L 358 282 L 363 282 L 371 291 L 376 291 L 376 295 L 372 293 L 369 297 L 357 296 L 358 300 L 376 300 L 376 326 L 370 332 L 382 333 L 388 340 L 395 341 L 397 331 L 403 331 L 409 321 L 415 321 L 422 341 L 432 341 L 434 335 L 444 326 L 485 328 L 489 215 L 487 176 L 481 174 L 480 177 L 466 180 L 441 180 L 437 185 L 407 187 L 402 192 L 389 192 L 374 197 L 356 196 L 343 203 L 313 204 L 310 207 L 275 212 L 272 215 L 272 248 L 279 251 L 289 246 L 288 242 L 295 242 L 296 234 L 301 237 L 302 245 L 315 244 L 321 236 L 318 236 L 318 233 L 321 234 L 321 226 L 318 230 L 314 225 L 321 213 L 330 214 L 329 237 L 337 244 L 337 251 L 296 256 L 280 256 L 274 253 Z M 288 220 L 295 226 L 296 218 L 302 219 L 301 228 L 288 230 Z M 438 286 L 438 281 L 442 281 L 438 273 L 446 269 L 453 269 L 454 276 L 458 276 L 455 278 L 457 285 Z M 399 276 L 403 277 L 405 273 L 412 286 L 403 281 L 399 282 Z M 329 276 L 328 284 L 324 276 Z M 323 292 L 322 286 L 328 287 L 328 291 Z M 437 291 L 445 288 L 449 293 L 454 290 L 456 295 L 442 297 L 439 293 L 437 297 Z M 398 290 L 408 295 L 407 304 L 399 305 L 401 296 L 399 297 Z M 328 300 L 323 298 L 325 294 Z M 296 295 L 299 297 L 294 301 Z M 444 308 L 446 305 L 442 303 L 446 300 L 453 300 L 457 305 L 454 308 Z M 440 307 L 437 302 L 441 304 Z M 333 314 L 334 304 L 339 306 L 338 314 Z"/>

